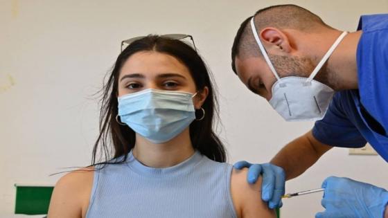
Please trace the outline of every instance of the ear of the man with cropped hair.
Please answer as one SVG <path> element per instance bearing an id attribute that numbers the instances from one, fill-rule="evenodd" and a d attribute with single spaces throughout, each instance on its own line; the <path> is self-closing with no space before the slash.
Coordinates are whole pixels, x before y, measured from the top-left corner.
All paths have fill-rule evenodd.
<path id="1" fill-rule="evenodd" d="M 274 27 L 266 27 L 260 32 L 260 38 L 266 49 L 281 53 L 290 53 L 292 46 L 290 45 L 288 36 L 281 30 Z"/>

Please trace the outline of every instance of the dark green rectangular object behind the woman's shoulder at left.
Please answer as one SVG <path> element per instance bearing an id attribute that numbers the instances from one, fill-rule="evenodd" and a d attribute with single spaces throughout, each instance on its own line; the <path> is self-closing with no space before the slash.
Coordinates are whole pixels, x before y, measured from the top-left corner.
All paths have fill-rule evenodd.
<path id="1" fill-rule="evenodd" d="M 46 215 L 53 186 L 16 185 L 15 214 Z"/>

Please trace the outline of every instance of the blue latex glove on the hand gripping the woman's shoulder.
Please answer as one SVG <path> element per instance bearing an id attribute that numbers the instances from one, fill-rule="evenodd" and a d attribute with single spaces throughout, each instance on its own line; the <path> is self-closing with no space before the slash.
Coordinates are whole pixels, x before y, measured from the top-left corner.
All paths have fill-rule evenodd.
<path id="1" fill-rule="evenodd" d="M 268 202 L 271 209 L 281 208 L 283 203 L 281 197 L 284 194 L 285 172 L 283 168 L 271 163 L 252 164 L 247 161 L 240 161 L 234 164 L 238 170 L 249 167 L 248 183 L 256 183 L 258 176 L 263 174 L 263 183 L 261 185 L 261 198 Z"/>

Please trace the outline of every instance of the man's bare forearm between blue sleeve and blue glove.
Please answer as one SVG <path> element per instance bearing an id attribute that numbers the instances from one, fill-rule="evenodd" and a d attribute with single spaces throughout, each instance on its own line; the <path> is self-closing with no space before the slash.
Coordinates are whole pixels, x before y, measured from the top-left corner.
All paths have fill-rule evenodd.
<path id="1" fill-rule="evenodd" d="M 331 147 L 319 143 L 311 131 L 293 140 L 272 158 L 271 163 L 283 167 L 285 179 L 293 179 L 305 172 Z"/>

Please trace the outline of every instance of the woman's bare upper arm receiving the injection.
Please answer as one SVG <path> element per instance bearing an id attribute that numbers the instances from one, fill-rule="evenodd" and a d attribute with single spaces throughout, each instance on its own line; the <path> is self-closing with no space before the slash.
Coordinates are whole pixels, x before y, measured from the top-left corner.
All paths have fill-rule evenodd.
<path id="1" fill-rule="evenodd" d="M 247 168 L 233 169 L 231 174 L 231 196 L 238 217 L 276 217 L 276 212 L 261 199 L 261 177 L 256 183 L 249 184 L 247 172 Z"/>

